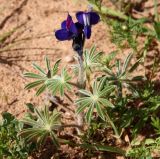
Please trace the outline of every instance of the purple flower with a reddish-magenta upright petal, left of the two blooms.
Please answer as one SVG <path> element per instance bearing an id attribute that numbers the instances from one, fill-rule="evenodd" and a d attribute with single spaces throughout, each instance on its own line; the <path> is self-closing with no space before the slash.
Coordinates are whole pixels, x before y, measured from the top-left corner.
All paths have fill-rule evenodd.
<path id="1" fill-rule="evenodd" d="M 72 17 L 68 14 L 67 20 L 61 24 L 61 29 L 55 32 L 55 36 L 58 40 L 71 40 L 78 34 L 79 30 L 76 24 L 73 22 Z"/>

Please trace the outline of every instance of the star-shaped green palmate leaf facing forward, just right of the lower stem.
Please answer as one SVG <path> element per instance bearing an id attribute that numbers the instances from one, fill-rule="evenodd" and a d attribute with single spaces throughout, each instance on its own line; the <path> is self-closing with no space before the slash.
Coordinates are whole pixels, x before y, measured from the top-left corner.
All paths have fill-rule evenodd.
<path id="1" fill-rule="evenodd" d="M 86 121 L 90 123 L 92 119 L 92 114 L 94 109 L 97 110 L 97 114 L 105 120 L 105 107 L 114 107 L 114 105 L 107 99 L 107 94 L 111 93 L 114 90 L 114 86 L 104 87 L 104 78 L 99 82 L 95 81 L 93 83 L 92 90 L 93 92 L 87 90 L 79 90 L 83 95 L 80 97 L 76 104 L 78 105 L 77 113 L 84 111 L 87 108 L 86 112 Z M 104 88 L 103 88 L 104 87 Z"/>

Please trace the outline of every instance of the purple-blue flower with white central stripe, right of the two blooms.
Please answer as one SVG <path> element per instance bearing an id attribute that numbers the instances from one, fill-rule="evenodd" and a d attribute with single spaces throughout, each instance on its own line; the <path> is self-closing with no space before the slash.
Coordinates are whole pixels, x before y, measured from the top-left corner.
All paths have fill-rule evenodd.
<path id="1" fill-rule="evenodd" d="M 95 12 L 78 12 L 76 14 L 77 20 L 84 26 L 84 34 L 87 39 L 91 37 L 91 26 L 97 24 L 100 17 Z"/>

